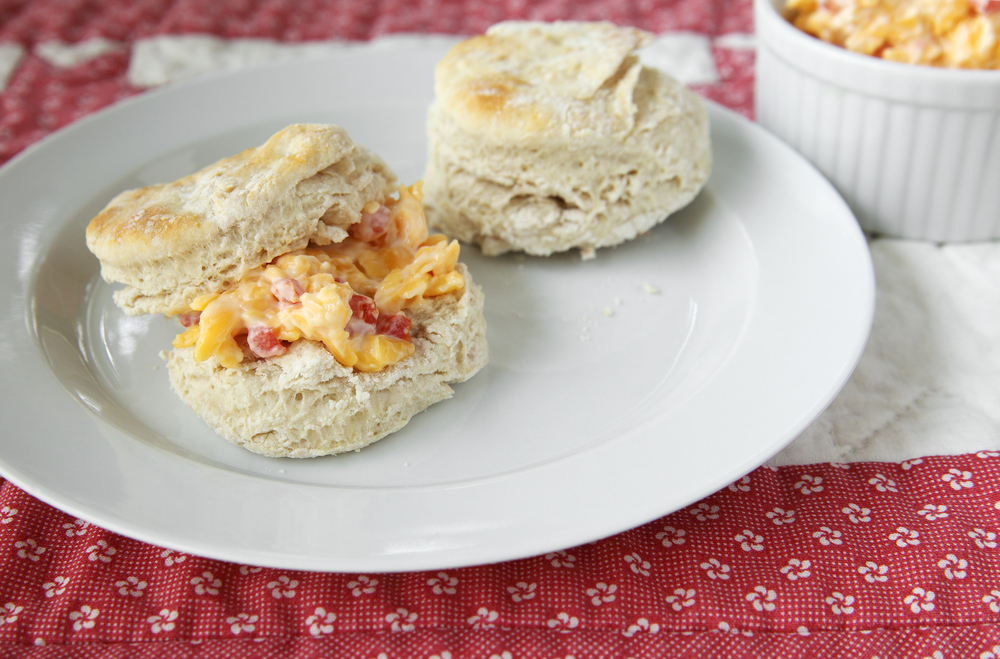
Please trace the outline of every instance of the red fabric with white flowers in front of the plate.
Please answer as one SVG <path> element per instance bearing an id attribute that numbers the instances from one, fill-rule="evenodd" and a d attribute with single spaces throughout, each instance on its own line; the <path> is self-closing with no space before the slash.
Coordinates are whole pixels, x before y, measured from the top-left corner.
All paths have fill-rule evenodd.
<path id="1" fill-rule="evenodd" d="M 178 554 L 6 483 L 0 652 L 995 659 L 998 482 L 995 453 L 762 467 L 599 542 L 360 575 Z"/>

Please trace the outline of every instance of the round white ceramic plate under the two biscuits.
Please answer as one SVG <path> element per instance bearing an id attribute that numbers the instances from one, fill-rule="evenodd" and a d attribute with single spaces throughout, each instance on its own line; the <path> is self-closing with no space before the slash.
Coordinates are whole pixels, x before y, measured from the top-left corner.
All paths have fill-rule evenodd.
<path id="1" fill-rule="evenodd" d="M 281 568 L 403 571 L 571 547 L 678 510 L 793 439 L 871 326 L 867 245 L 831 186 L 710 105 L 715 170 L 685 211 L 598 257 L 463 259 L 490 363 L 365 450 L 226 443 L 171 391 L 176 325 L 127 317 L 84 245 L 118 191 L 295 121 L 421 176 L 438 47 L 358 48 L 203 78 L 87 118 L 0 170 L 0 472 L 109 530 Z"/>

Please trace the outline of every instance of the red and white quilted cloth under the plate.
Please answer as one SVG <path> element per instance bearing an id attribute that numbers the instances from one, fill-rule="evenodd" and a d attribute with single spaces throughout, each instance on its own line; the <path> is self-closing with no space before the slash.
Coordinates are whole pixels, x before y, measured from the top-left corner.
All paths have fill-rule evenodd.
<path id="1" fill-rule="evenodd" d="M 752 118 L 747 0 L 0 0 L 0 162 L 203 70 L 303 42 L 468 35 L 508 18 L 662 35 L 654 55 Z M 871 246 L 869 348 L 780 466 L 599 542 L 405 574 L 185 555 L 0 481 L 0 655 L 1000 657 L 1000 422 L 996 404 L 976 402 L 996 398 L 998 324 L 982 308 L 1000 301 L 1000 254 Z M 915 318 L 925 326 L 901 342 Z"/>

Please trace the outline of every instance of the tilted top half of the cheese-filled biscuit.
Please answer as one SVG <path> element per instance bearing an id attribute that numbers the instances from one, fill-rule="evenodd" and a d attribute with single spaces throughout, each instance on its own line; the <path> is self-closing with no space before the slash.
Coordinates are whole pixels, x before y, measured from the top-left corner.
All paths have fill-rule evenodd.
<path id="1" fill-rule="evenodd" d="M 338 126 L 296 124 L 173 183 L 122 192 L 87 226 L 87 247 L 130 314 L 182 313 L 249 270 L 347 236 L 396 177 Z"/>

